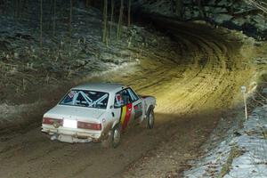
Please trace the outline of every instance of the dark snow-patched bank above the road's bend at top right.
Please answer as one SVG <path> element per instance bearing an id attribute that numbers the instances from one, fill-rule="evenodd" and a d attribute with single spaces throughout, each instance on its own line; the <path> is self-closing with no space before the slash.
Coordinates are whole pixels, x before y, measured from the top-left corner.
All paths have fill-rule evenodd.
<path id="1" fill-rule="evenodd" d="M 138 0 L 135 5 L 142 6 L 143 12 L 178 20 L 206 20 L 263 40 L 267 36 L 266 14 L 243 0 Z"/>

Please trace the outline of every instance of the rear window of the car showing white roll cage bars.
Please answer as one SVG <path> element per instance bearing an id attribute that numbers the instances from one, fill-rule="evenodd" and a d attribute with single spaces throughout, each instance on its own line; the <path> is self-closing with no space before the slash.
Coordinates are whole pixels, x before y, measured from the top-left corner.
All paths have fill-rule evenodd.
<path id="1" fill-rule="evenodd" d="M 61 100 L 60 104 L 95 109 L 107 109 L 108 101 L 109 93 L 87 90 L 71 90 Z"/>

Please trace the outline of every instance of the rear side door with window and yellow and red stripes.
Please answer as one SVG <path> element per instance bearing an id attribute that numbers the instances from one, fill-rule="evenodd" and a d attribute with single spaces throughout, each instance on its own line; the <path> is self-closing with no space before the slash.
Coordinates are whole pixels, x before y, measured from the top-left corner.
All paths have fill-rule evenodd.
<path id="1" fill-rule="evenodd" d="M 115 107 L 120 108 L 120 123 L 122 130 L 125 130 L 133 117 L 133 102 L 126 89 L 116 93 Z"/>

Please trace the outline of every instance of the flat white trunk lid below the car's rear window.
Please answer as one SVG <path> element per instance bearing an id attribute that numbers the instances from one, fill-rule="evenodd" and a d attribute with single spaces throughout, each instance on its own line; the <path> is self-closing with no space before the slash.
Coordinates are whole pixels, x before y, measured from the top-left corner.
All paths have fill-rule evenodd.
<path id="1" fill-rule="evenodd" d="M 92 109 L 85 107 L 57 105 L 44 114 L 44 117 L 52 118 L 68 118 L 80 121 L 95 121 L 99 122 L 101 116 L 105 113 L 104 109 Z"/>

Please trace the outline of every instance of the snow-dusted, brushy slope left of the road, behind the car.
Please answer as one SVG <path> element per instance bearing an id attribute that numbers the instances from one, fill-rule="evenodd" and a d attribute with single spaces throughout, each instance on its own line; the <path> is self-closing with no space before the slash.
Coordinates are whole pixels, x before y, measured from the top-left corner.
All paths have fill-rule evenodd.
<path id="1" fill-rule="evenodd" d="M 31 1 L 29 5 L 34 7 L 35 3 Z M 67 84 L 70 87 L 119 69 L 133 69 L 140 63 L 142 51 L 147 49 L 143 41 L 152 44 L 159 37 L 133 25 L 131 28 L 123 26 L 122 38 L 117 40 L 114 23 L 109 44 L 103 44 L 101 12 L 93 7 L 73 7 L 71 37 L 68 35 L 68 9 L 58 12 L 53 36 L 51 21 L 46 20 L 50 18 L 47 5 L 44 7 L 42 50 L 36 28 L 38 20 L 36 17 L 29 19 L 30 12 L 23 12 L 22 20 L 16 20 L 12 14 L 0 16 L 1 131 L 6 125 L 22 125 L 30 119 L 28 116 L 33 117 L 32 113 L 39 113 L 40 117 L 44 109 L 49 108 L 52 95 L 59 100 L 67 90 Z M 59 88 L 63 90 L 60 93 Z"/>

